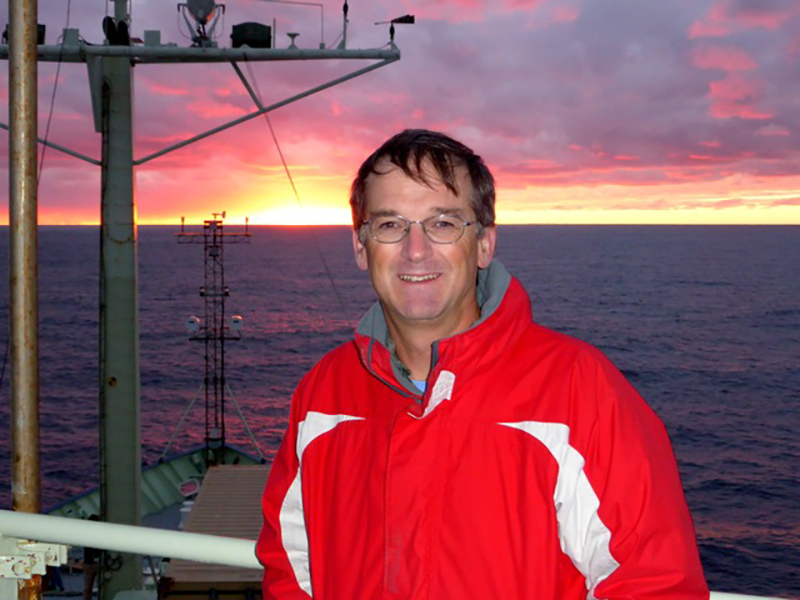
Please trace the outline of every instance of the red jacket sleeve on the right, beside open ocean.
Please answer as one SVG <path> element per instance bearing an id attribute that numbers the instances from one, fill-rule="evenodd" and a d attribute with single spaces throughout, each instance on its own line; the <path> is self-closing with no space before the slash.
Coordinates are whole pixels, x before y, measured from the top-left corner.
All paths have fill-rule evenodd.
<path id="1" fill-rule="evenodd" d="M 610 532 L 606 548 L 613 560 L 596 581 L 587 581 L 588 597 L 708 599 L 666 429 L 604 356 L 593 362 L 592 373 L 582 373 L 595 382 L 584 393 L 596 395 L 598 411 L 586 437 L 585 471 L 597 494 L 599 519 Z"/>

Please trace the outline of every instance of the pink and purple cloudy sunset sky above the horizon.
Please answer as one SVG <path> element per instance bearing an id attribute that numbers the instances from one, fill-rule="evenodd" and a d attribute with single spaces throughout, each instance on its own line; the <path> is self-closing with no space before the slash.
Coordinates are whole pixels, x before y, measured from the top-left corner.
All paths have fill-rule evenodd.
<path id="1" fill-rule="evenodd" d="M 274 20 L 278 47 L 287 32 L 300 47 L 335 45 L 342 2 L 321 4 L 228 0 L 219 44 L 235 23 Z M 51 44 L 67 23 L 102 43 L 106 11 L 39 0 Z M 500 224 L 800 224 L 797 0 L 351 0 L 348 47 L 385 46 L 388 25 L 374 23 L 407 13 L 400 61 L 138 167 L 139 224 L 221 211 L 229 223 L 348 223 L 358 166 L 405 128 L 443 131 L 484 158 Z M 131 21 L 134 36 L 190 43 L 176 3 L 133 0 Z M 367 64 L 246 73 L 269 104 Z M 255 109 L 230 65 L 134 73 L 137 158 Z M 5 61 L 0 80 L 7 123 Z M 86 67 L 42 63 L 39 94 L 39 135 L 99 157 Z M 8 152 L 0 131 L 0 223 Z M 39 192 L 40 223 L 99 222 L 98 167 L 48 149 Z"/>

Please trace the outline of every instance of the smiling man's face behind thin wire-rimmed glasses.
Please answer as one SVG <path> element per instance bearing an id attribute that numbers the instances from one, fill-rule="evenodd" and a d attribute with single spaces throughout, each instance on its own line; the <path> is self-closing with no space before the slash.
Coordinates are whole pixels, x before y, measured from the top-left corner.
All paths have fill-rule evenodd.
<path id="1" fill-rule="evenodd" d="M 382 168 L 386 168 L 384 163 Z M 367 219 L 399 215 L 409 221 L 451 214 L 463 221 L 476 218 L 469 198 L 472 186 L 466 169 L 459 169 L 456 196 L 436 181 L 433 188 L 417 183 L 392 165 L 383 175 L 366 180 Z M 364 242 L 353 234 L 356 262 L 368 270 L 383 306 L 393 337 L 412 331 L 429 331 L 437 339 L 467 329 L 479 316 L 475 283 L 478 268 L 489 265 L 494 254 L 496 230 L 471 225 L 454 244 L 436 244 L 420 224 L 400 242 L 382 244 L 369 235 Z"/>

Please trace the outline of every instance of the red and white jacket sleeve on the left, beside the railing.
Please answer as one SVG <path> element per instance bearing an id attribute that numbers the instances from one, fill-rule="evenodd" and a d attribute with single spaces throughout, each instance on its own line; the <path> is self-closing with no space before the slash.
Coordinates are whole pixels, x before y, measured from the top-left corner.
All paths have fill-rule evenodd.
<path id="1" fill-rule="evenodd" d="M 272 462 L 261 499 L 264 525 L 256 543 L 256 555 L 264 565 L 264 600 L 307 600 L 311 598 L 308 569 L 308 542 L 299 491 L 297 458 L 297 397 L 281 446 Z M 298 581 L 298 579 L 302 580 Z M 305 589 L 303 584 L 305 584 Z"/>

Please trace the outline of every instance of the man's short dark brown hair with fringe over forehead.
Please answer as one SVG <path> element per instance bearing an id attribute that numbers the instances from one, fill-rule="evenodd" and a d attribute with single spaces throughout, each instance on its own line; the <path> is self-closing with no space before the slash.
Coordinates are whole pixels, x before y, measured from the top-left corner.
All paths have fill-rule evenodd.
<path id="1" fill-rule="evenodd" d="M 472 184 L 470 203 L 475 216 L 484 227 L 494 225 L 494 177 L 483 159 L 461 142 L 443 133 L 427 129 L 406 129 L 384 142 L 358 169 L 358 175 L 350 188 L 350 209 L 356 231 L 367 218 L 367 177 L 373 173 L 384 175 L 388 171 L 378 170 L 383 160 L 400 167 L 406 176 L 427 186 L 432 184 L 424 168 L 430 165 L 445 187 L 456 195 L 456 169 L 465 167 Z"/>

